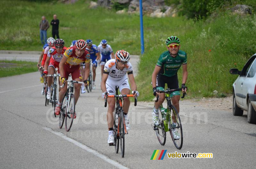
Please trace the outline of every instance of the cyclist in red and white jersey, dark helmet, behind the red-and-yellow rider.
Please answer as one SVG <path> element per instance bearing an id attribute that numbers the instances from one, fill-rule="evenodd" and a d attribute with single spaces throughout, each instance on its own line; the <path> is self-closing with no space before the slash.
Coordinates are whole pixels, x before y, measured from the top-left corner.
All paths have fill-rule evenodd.
<path id="1" fill-rule="evenodd" d="M 62 39 L 56 39 L 54 42 L 55 47 L 52 47 L 47 54 L 47 58 L 44 64 L 44 75 L 48 74 L 54 74 L 55 68 L 59 68 L 59 63 L 64 55 L 65 50 L 67 49 L 64 47 L 64 41 Z M 50 61 L 50 64 L 49 64 Z M 49 66 L 48 66 L 49 64 Z M 48 69 L 47 69 L 48 68 Z M 58 73 L 60 73 L 58 69 Z M 52 86 L 52 79 L 53 77 L 47 78 L 47 86 L 48 86 L 48 92 L 47 92 L 47 99 L 51 99 L 51 86 Z M 59 88 L 60 90 L 60 88 Z"/>

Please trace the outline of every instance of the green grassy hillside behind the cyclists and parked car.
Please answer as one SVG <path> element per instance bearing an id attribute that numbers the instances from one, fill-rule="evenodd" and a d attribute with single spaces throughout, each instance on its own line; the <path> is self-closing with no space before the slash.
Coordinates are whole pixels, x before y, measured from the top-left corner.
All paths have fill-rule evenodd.
<path id="1" fill-rule="evenodd" d="M 232 92 L 236 75 L 229 69 L 242 69 L 256 53 L 256 15 L 233 14 L 228 7 L 255 2 L 233 1 L 233 5 L 217 9 L 208 19 L 194 21 L 185 17 L 143 17 L 145 53 L 140 57 L 136 77 L 140 100 L 152 100 L 151 74 L 160 54 L 166 51 L 168 36 L 180 38 L 181 49 L 188 56 L 188 98 L 225 96 Z M 140 22 L 137 14 L 117 15 L 114 10 L 89 9 L 89 3 L 80 0 L 75 4 L 29 1 L 0 1 L 0 50 L 41 50 L 39 22 L 45 15 L 60 19 L 60 38 L 69 46 L 75 39 L 92 39 L 99 44 L 107 39 L 114 52 L 124 49 L 140 55 Z M 10 12 L 12 11 L 12 12 Z M 255 9 L 253 10 L 255 11 Z M 51 27 L 47 32 L 51 36 Z M 182 69 L 178 72 L 181 82 Z"/>

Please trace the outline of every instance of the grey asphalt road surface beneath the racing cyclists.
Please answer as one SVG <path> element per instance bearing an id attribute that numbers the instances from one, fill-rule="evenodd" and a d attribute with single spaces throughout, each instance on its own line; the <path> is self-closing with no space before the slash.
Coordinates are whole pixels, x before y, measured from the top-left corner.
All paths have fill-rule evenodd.
<path id="1" fill-rule="evenodd" d="M 159 144 L 151 127 L 153 102 L 131 104 L 131 130 L 122 158 L 107 144 L 99 68 L 97 73 L 96 89 L 79 97 L 69 132 L 59 129 L 52 106 L 44 106 L 38 72 L 0 78 L 0 168 L 255 168 L 256 125 L 217 108 L 194 107 L 189 101 L 180 102 L 181 150 L 168 133 L 166 144 Z M 168 158 L 166 153 L 163 160 L 150 160 L 154 150 L 212 153 L 213 158 Z"/>

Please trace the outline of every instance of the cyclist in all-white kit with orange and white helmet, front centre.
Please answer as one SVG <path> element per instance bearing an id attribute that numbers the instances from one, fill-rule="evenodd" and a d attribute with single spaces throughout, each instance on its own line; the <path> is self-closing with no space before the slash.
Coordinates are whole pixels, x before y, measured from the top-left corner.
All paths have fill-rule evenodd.
<path id="1" fill-rule="evenodd" d="M 131 83 L 132 90 L 136 93 L 135 96 L 139 96 L 139 92 L 137 90 L 137 85 L 135 83 L 133 73 L 132 73 L 132 64 L 128 62 L 130 60 L 130 54 L 124 50 L 118 50 L 115 54 L 116 59 L 110 59 L 105 64 L 104 73 L 102 75 L 100 87 L 102 90 L 102 97 L 105 98 L 106 92 L 109 95 L 116 94 L 116 86 L 119 87 L 119 91 L 122 95 L 130 94 L 130 85 Z M 128 78 L 126 76 L 128 74 Z M 132 94 L 133 94 L 132 91 Z M 108 143 L 114 143 L 114 132 L 113 132 L 113 124 L 114 117 L 113 112 L 115 110 L 115 98 L 108 98 L 108 112 L 107 112 L 107 121 L 108 121 Z M 129 120 L 127 117 L 127 113 L 130 106 L 129 97 L 124 97 L 123 111 L 124 111 L 124 121 L 126 125 L 126 130 L 130 129 Z"/>

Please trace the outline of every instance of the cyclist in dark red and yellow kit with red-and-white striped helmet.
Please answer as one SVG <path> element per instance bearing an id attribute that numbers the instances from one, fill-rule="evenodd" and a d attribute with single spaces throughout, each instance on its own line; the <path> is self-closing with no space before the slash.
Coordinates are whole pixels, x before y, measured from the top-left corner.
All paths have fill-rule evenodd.
<path id="1" fill-rule="evenodd" d="M 82 39 L 76 41 L 75 46 L 69 47 L 65 53 L 64 57 L 61 59 L 59 67 L 60 67 L 60 85 L 64 84 L 68 79 L 68 75 L 71 73 L 71 77 L 75 81 L 82 81 L 82 74 L 80 71 L 80 64 L 85 62 L 85 75 L 83 77 L 84 83 L 87 85 L 89 73 L 90 73 L 90 54 L 86 48 L 86 42 Z M 80 84 L 75 84 L 75 104 L 78 100 L 80 94 Z M 59 93 L 59 101 L 55 108 L 55 114 L 60 114 L 61 102 L 65 96 L 67 91 L 67 83 L 65 83 L 64 87 L 60 89 Z M 72 114 L 71 114 L 72 116 Z M 76 118 L 76 112 L 74 112 L 74 118 Z"/>

